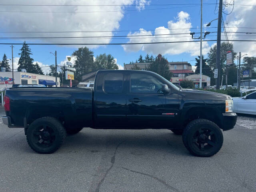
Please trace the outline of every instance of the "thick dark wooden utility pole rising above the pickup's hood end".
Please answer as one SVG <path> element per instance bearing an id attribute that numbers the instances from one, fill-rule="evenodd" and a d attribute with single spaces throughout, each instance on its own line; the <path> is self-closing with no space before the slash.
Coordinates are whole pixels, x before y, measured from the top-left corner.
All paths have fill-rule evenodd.
<path id="1" fill-rule="evenodd" d="M 216 68 L 218 69 L 218 78 L 216 89 L 220 89 L 220 40 L 221 40 L 221 18 L 222 18 L 222 2 L 219 1 L 219 14 L 218 14 L 218 30 L 217 30 L 217 46 L 216 46 Z"/>

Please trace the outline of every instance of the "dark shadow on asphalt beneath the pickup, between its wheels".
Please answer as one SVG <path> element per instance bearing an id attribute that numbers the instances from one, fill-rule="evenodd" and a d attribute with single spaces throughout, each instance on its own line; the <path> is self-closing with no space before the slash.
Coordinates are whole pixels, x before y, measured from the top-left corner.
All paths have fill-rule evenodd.
<path id="1" fill-rule="evenodd" d="M 170 130 L 95 130 L 84 128 L 76 135 L 68 135 L 64 145 L 57 152 L 106 152 L 121 142 L 123 142 L 122 150 L 129 150 L 130 154 L 135 156 L 142 156 L 149 151 L 190 156 L 183 145 L 182 136 L 177 136 Z"/>

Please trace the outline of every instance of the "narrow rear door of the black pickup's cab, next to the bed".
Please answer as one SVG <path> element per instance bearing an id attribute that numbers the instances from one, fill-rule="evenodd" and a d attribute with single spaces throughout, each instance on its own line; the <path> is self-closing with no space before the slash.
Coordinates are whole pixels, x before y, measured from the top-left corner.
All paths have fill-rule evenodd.
<path id="1" fill-rule="evenodd" d="M 101 72 L 94 90 L 95 126 L 126 126 L 126 88 L 124 72 Z"/>

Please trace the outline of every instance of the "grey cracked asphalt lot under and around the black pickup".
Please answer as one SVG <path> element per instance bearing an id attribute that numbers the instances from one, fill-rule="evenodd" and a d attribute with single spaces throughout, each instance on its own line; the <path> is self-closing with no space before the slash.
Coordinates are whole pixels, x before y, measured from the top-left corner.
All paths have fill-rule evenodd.
<path id="1" fill-rule="evenodd" d="M 0 108 L 0 115 L 4 110 Z M 170 130 L 94 130 L 36 154 L 22 128 L 0 120 L 1 192 L 256 191 L 256 116 L 238 116 L 220 152 L 189 154 Z"/>

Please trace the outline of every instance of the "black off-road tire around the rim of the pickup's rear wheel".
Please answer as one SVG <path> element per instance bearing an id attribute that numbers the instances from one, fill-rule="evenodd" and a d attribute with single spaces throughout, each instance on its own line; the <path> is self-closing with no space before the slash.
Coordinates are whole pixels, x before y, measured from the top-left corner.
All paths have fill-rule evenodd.
<path id="1" fill-rule="evenodd" d="M 54 132 L 54 141 L 52 142 L 51 146 L 48 146 L 48 147 L 38 146 L 40 144 L 36 144 L 34 141 L 35 140 L 34 132 L 38 128 L 40 129 L 40 127 L 42 126 L 48 126 L 48 128 L 50 127 Z M 34 122 L 32 122 L 28 127 L 28 130 L 26 133 L 27 133 L 26 139 L 30 148 L 32 148 L 32 150 L 34 150 L 35 152 L 38 152 L 41 154 L 50 154 L 55 152 L 56 150 L 58 150 L 58 148 L 60 148 L 60 146 L 63 144 L 66 138 L 65 128 L 63 127 L 60 121 L 58 121 L 56 118 L 53 118 L 53 117 L 42 117 L 34 120 Z"/>

